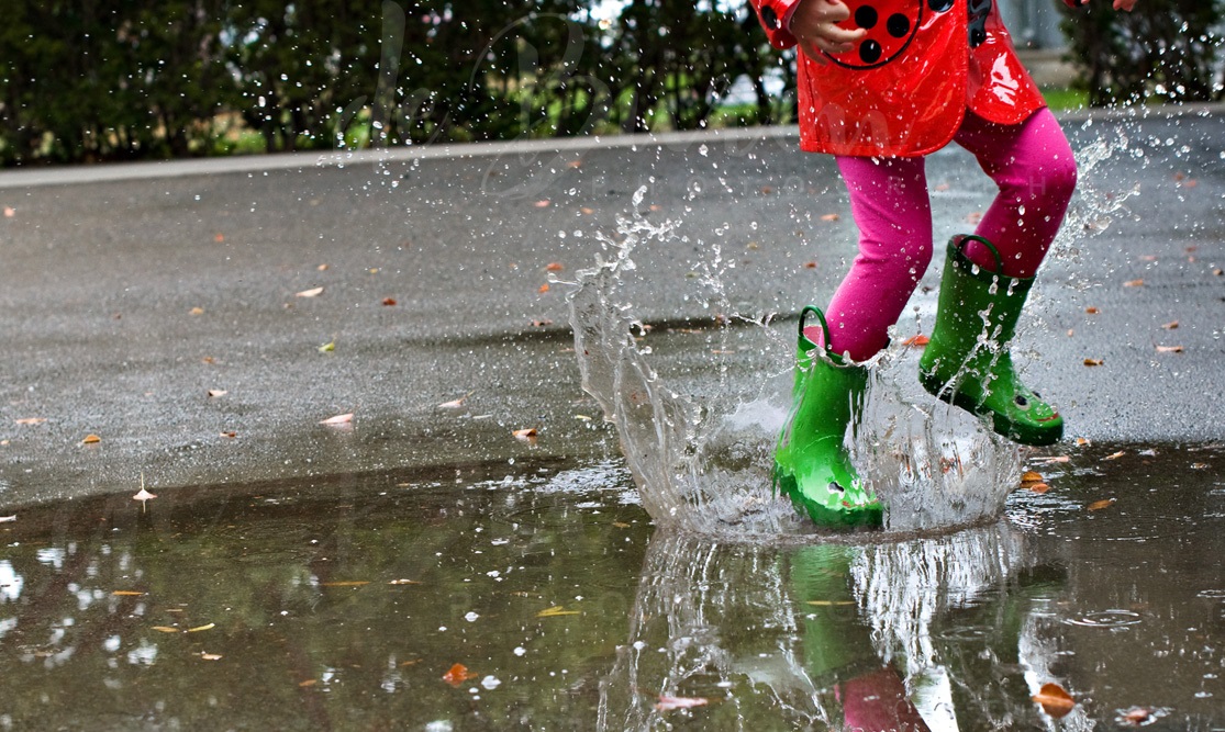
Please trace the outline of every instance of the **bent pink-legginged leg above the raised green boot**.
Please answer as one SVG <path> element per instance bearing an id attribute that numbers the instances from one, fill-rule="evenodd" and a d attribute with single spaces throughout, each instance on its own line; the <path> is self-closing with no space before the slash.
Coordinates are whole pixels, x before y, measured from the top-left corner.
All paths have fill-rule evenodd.
<path id="1" fill-rule="evenodd" d="M 996 125 L 967 111 L 954 140 L 1000 186 L 975 234 L 1000 250 L 1003 274 L 1034 277 L 1076 189 L 1076 158 L 1055 115 L 1042 109 L 1019 125 Z M 995 269 L 986 247 L 971 244 L 965 253 Z"/>

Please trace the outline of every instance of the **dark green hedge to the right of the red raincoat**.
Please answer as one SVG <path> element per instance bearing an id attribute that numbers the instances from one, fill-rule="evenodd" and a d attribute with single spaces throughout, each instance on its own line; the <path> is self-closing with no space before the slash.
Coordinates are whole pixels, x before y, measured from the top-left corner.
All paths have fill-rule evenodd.
<path id="1" fill-rule="evenodd" d="M 1140 0 L 1132 12 L 1116 12 L 1109 2 L 1057 5 L 1091 106 L 1225 95 L 1216 62 L 1225 0 Z"/>

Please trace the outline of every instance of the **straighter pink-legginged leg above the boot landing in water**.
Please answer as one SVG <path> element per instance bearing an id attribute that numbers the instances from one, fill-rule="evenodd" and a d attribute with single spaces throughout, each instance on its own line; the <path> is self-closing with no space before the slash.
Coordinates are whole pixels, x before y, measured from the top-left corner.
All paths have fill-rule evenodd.
<path id="1" fill-rule="evenodd" d="M 931 202 L 922 158 L 839 157 L 859 226 L 859 256 L 826 317 L 838 354 L 855 361 L 889 340 L 907 300 L 931 262 Z"/>

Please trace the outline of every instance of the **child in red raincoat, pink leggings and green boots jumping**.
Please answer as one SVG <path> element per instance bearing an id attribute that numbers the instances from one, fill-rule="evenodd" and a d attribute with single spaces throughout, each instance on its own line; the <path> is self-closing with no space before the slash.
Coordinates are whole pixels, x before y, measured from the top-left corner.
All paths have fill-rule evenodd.
<path id="1" fill-rule="evenodd" d="M 1089 0 L 1065 0 L 1085 5 Z M 1137 0 L 1114 0 L 1132 10 Z M 974 235 L 956 236 L 924 387 L 1024 444 L 1051 444 L 1063 420 L 1020 383 L 1008 351 L 1017 319 L 1076 187 L 1076 160 L 1018 61 L 991 0 L 752 0 L 777 48 L 799 45 L 800 147 L 837 157 L 860 230 L 859 256 L 823 313 L 806 307 L 774 481 L 828 526 L 877 526 L 882 507 L 848 459 L 867 387 L 862 364 L 888 343 L 931 262 L 924 155 L 951 141 L 1000 193 Z M 820 327 L 807 326 L 810 316 Z"/>

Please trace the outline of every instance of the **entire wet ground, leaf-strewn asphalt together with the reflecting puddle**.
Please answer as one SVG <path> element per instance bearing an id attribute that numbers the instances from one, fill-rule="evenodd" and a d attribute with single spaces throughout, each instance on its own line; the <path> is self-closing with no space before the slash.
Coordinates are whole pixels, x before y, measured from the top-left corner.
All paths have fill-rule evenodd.
<path id="1" fill-rule="evenodd" d="M 697 397 L 779 376 L 724 328 L 786 344 L 855 253 L 786 133 L 0 174 L 0 730 L 1225 728 L 1225 116 L 1066 129 L 1018 348 L 1050 490 L 880 545 L 655 530 L 555 282 L 646 187 L 639 348 Z M 927 173 L 971 228 L 974 162 Z"/>

